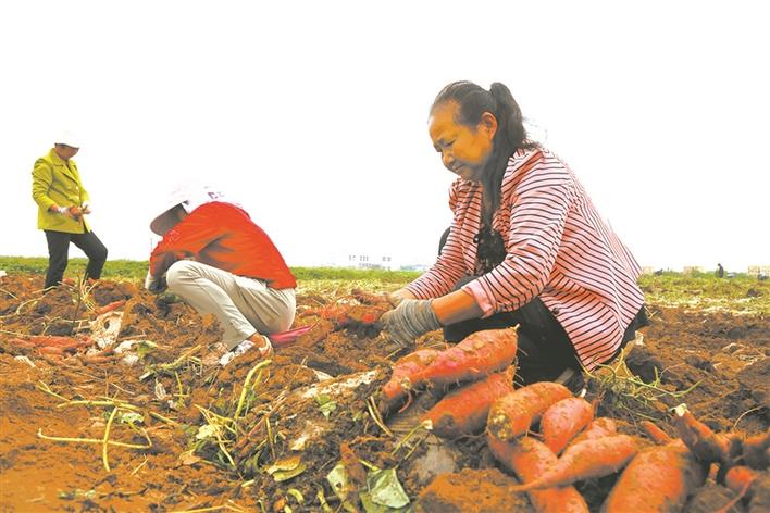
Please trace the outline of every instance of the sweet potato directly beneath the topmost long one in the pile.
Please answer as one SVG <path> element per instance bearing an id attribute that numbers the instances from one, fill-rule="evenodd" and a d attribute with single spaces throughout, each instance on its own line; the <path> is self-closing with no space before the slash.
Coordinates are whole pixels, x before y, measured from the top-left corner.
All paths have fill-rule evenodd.
<path id="1" fill-rule="evenodd" d="M 508 368 L 506 373 L 490 374 L 486 379 L 448 393 L 423 415 L 422 421 L 431 421 L 433 433 L 443 438 L 483 430 L 495 399 L 513 391 L 516 367 Z"/>

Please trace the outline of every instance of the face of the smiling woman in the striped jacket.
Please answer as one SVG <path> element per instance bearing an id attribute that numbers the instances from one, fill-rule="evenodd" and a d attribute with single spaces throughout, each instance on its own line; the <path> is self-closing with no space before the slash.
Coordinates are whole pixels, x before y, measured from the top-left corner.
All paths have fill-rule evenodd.
<path id="1" fill-rule="evenodd" d="M 429 120 L 431 140 L 447 170 L 479 182 L 492 154 L 497 120 L 485 112 L 476 126 L 465 126 L 456 122 L 457 109 L 454 101 L 436 105 Z"/>

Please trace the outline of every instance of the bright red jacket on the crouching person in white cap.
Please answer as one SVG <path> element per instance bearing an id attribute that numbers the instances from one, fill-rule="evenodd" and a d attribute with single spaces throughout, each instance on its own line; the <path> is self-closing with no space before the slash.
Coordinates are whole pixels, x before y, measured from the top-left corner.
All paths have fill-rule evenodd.
<path id="1" fill-rule="evenodd" d="M 204 203 L 174 226 L 150 255 L 150 274 L 162 276 L 178 260 L 195 260 L 275 289 L 297 280 L 268 234 L 231 203 Z"/>

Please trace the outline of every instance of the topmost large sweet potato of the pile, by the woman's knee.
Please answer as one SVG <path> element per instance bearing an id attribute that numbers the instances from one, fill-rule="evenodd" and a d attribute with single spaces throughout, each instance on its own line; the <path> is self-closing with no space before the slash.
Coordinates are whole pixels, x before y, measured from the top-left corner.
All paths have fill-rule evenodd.
<path id="1" fill-rule="evenodd" d="M 433 385 L 482 379 L 508 367 L 516 358 L 518 346 L 516 328 L 472 333 L 457 346 L 442 351 L 415 378 Z"/>

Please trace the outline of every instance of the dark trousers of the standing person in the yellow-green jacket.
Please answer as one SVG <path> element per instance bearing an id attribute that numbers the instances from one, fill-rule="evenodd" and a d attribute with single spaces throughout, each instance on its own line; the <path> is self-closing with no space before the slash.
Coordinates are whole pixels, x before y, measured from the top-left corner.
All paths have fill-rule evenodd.
<path id="1" fill-rule="evenodd" d="M 107 248 L 94 232 L 85 234 L 67 234 L 64 232 L 46 232 L 48 241 L 48 271 L 46 272 L 46 286 L 53 287 L 61 283 L 70 253 L 70 242 L 74 243 L 88 256 L 86 276 L 92 279 L 101 277 L 101 270 L 107 261 Z"/>

